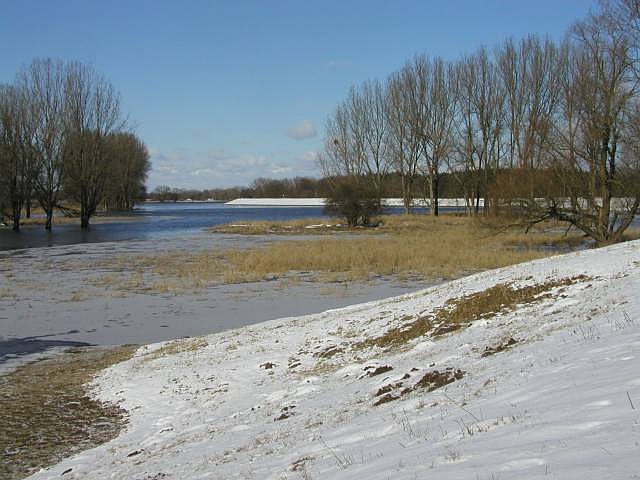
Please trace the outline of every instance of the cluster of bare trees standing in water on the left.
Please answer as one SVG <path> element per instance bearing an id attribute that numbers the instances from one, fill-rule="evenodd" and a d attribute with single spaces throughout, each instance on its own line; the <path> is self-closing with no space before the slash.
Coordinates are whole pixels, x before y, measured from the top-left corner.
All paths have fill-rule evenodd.
<path id="1" fill-rule="evenodd" d="M 0 85 L 0 215 L 14 230 L 34 201 L 46 229 L 63 199 L 78 205 L 83 228 L 101 206 L 130 209 L 149 167 L 119 94 L 91 66 L 35 60 Z"/>

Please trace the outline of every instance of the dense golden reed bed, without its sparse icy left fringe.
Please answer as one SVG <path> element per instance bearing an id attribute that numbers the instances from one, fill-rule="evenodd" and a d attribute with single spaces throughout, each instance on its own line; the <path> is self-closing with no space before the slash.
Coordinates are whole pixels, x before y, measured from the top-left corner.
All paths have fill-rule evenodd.
<path id="1" fill-rule="evenodd" d="M 232 281 L 289 272 L 318 272 L 324 280 L 366 279 L 371 275 L 451 278 L 462 273 L 525 262 L 549 255 L 538 248 L 575 245 L 579 236 L 539 231 L 502 232 L 466 217 L 390 216 L 362 237 L 334 236 L 283 241 L 260 249 L 229 251 L 215 264 Z M 205 265 L 206 258 L 200 258 Z"/>

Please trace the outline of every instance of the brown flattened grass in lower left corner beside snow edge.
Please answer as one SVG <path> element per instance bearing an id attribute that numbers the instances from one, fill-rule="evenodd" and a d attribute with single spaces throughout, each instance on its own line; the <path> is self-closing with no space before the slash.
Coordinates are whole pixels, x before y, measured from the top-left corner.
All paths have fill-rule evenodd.
<path id="1" fill-rule="evenodd" d="M 125 412 L 84 386 L 135 347 L 73 349 L 0 376 L 0 478 L 19 479 L 120 432 Z"/>

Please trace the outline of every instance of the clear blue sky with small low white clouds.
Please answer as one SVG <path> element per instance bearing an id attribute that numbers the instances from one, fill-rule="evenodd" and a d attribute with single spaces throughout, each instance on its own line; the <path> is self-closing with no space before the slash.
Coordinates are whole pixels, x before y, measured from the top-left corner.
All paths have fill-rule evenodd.
<path id="1" fill-rule="evenodd" d="M 152 157 L 149 187 L 318 176 L 323 123 L 351 85 L 416 53 L 455 59 L 560 38 L 592 0 L 3 0 L 0 82 L 52 57 L 91 63 L 122 94 Z"/>

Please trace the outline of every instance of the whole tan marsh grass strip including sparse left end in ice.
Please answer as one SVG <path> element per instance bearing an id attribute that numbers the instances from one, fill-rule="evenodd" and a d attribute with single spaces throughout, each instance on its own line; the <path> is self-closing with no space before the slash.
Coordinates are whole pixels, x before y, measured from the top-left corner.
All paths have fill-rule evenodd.
<path id="1" fill-rule="evenodd" d="M 522 229 L 499 228 L 453 215 L 398 215 L 381 220 L 383 223 L 377 228 L 361 229 L 366 233 L 363 235 L 282 240 L 248 250 L 120 256 L 98 266 L 122 274 L 135 272 L 128 273 L 127 288 L 144 292 L 295 279 L 302 275 L 326 282 L 366 280 L 379 275 L 448 279 L 568 251 L 585 242 L 582 235 L 565 234 L 555 224 L 524 233 Z M 263 224 L 266 225 L 259 225 Z M 113 275 L 104 279 L 105 285 L 123 288 L 122 279 L 114 280 Z"/>

